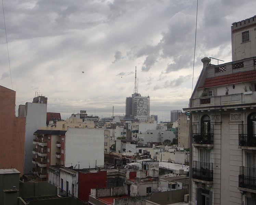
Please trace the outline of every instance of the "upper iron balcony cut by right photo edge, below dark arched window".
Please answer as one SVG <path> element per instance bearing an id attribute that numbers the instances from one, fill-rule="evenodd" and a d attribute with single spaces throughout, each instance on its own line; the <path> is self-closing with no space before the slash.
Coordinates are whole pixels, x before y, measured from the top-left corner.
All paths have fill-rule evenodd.
<path id="1" fill-rule="evenodd" d="M 239 125 L 239 146 L 242 149 L 256 149 L 256 134 L 248 132 L 247 124 Z"/>

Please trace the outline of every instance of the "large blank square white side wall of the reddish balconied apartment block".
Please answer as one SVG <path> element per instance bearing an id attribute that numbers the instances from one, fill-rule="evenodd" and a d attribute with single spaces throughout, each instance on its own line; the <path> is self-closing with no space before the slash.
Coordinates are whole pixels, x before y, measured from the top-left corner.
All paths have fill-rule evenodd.
<path id="1" fill-rule="evenodd" d="M 96 165 L 97 160 L 97 165 Z M 65 137 L 65 164 L 95 168 L 104 165 L 104 130 L 69 128 Z"/>

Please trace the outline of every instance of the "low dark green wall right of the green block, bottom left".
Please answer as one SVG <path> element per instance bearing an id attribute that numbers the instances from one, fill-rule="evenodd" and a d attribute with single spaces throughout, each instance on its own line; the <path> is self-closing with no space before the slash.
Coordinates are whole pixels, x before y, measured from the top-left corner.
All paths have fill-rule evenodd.
<path id="1" fill-rule="evenodd" d="M 57 195 L 57 187 L 47 181 L 20 183 L 20 197 L 22 198 L 52 195 Z"/>

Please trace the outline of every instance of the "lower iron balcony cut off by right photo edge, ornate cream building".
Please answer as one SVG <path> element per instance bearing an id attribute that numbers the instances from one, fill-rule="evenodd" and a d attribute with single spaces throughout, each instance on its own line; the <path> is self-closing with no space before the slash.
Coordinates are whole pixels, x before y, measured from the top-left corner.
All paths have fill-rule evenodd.
<path id="1" fill-rule="evenodd" d="M 244 190 L 244 189 L 256 190 L 256 168 L 241 166 L 238 186 L 240 190 Z"/>

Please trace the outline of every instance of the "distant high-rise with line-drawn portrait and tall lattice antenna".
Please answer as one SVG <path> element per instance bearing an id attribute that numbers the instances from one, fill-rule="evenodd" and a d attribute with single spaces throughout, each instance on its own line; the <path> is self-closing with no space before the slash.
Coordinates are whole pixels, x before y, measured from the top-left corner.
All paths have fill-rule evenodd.
<path id="1" fill-rule="evenodd" d="M 137 70 L 135 69 L 134 90 L 131 97 L 127 97 L 125 101 L 125 117 L 138 119 L 140 121 L 148 121 L 150 115 L 150 97 L 141 96 L 137 89 Z"/>

